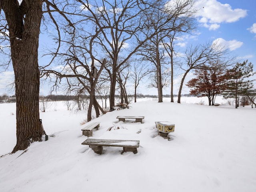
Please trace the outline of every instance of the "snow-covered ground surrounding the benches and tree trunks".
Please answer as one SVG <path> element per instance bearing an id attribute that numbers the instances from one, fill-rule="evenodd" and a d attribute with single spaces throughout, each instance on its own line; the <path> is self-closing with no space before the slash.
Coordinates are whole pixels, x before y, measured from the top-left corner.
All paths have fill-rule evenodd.
<path id="1" fill-rule="evenodd" d="M 255 192 L 256 108 L 235 109 L 221 98 L 220 106 L 184 99 L 140 100 L 92 120 L 100 128 L 91 138 L 140 140 L 137 154 L 121 154 L 121 147 L 94 153 L 81 144 L 86 112 L 57 102 L 40 113 L 49 140 L 3 156 L 16 144 L 16 109 L 14 103 L 0 104 L 0 191 Z M 118 122 L 120 115 L 145 119 Z M 175 124 L 171 139 L 158 136 L 155 121 Z"/>

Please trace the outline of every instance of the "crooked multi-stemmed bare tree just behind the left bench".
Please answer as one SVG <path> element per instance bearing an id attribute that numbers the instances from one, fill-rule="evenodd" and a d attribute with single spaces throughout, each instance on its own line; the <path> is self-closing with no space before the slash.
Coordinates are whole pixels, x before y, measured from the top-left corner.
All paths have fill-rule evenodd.
<path id="1" fill-rule="evenodd" d="M 85 93 L 90 96 L 88 106 L 87 121 L 92 119 L 92 106 L 96 112 L 96 116 L 100 115 L 100 111 L 105 113 L 95 98 L 95 89 L 98 78 L 104 68 L 106 59 L 98 55 L 97 39 L 102 33 L 102 28 L 97 28 L 87 8 L 94 9 L 87 1 L 74 1 L 73 4 L 62 3 L 60 5 L 50 4 L 52 8 L 62 7 L 58 10 L 64 16 L 64 21 L 54 20 L 55 29 L 57 31 L 58 45 L 55 50 L 49 50 L 48 55 L 54 55 L 51 63 L 58 64 L 59 69 L 52 69 L 49 65 L 42 67 L 42 77 L 55 78 L 55 85 L 59 82 L 66 81 L 68 92 Z M 98 11 L 94 10 L 94 17 L 98 17 Z M 54 11 L 53 11 L 54 12 Z M 54 16 L 49 12 L 50 17 Z M 90 27 L 89 27 L 90 26 Z"/>

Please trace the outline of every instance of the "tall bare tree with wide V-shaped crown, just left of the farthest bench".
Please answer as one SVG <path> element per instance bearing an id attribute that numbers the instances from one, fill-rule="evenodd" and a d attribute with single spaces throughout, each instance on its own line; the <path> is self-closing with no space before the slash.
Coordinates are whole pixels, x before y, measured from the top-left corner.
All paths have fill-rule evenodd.
<path id="1" fill-rule="evenodd" d="M 147 0 L 84 1 L 90 22 L 98 31 L 97 44 L 108 55 L 110 70 L 110 108 L 115 105 L 116 79 L 119 68 L 154 34 L 142 34 L 145 16 L 154 2 Z M 95 11 L 96 10 L 96 11 Z M 131 46 L 133 44 L 133 46 Z M 123 55 L 125 52 L 125 56 Z M 120 57 L 123 59 L 121 60 Z"/>

